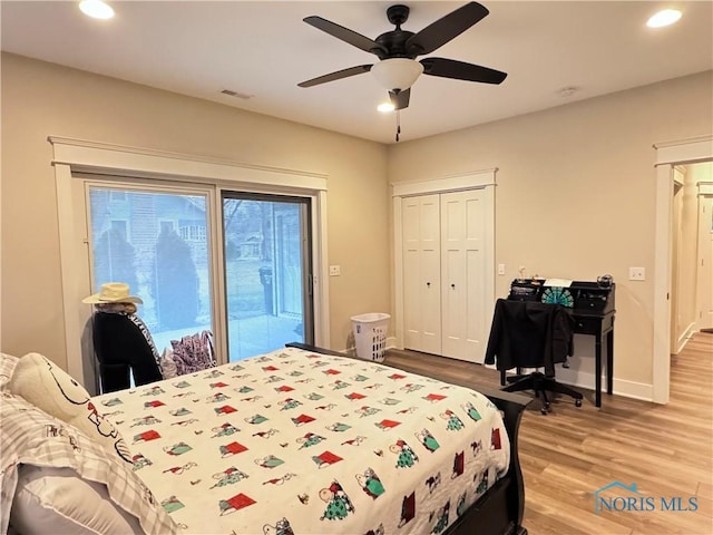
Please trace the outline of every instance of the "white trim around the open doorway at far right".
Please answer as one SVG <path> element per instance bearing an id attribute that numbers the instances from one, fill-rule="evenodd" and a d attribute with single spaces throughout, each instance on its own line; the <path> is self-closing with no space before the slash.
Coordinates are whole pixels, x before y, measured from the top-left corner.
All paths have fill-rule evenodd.
<path id="1" fill-rule="evenodd" d="M 653 401 L 667 403 L 671 382 L 671 224 L 673 168 L 713 160 L 713 136 L 655 144 L 656 215 L 654 230 Z"/>

